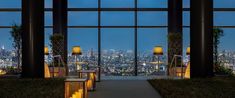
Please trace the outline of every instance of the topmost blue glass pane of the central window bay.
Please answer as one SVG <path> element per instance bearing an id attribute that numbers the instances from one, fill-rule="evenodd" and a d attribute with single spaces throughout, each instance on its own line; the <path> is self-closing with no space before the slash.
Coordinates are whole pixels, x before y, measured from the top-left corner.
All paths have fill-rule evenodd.
<path id="1" fill-rule="evenodd" d="M 101 0 L 102 8 L 134 8 L 134 0 Z"/>

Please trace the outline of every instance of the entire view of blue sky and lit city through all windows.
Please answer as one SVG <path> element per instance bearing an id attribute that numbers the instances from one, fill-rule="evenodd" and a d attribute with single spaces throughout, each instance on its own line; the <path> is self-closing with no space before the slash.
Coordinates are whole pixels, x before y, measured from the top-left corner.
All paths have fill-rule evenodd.
<path id="1" fill-rule="evenodd" d="M 45 7 L 52 8 L 53 0 L 45 0 Z M 69 8 L 98 8 L 98 0 L 68 0 Z M 125 1 L 125 2 L 124 2 Z M 138 8 L 167 8 L 167 0 L 137 0 Z M 215 8 L 235 8 L 235 0 L 214 0 Z M 102 8 L 134 8 L 134 0 L 101 0 Z M 183 7 L 190 8 L 190 0 L 183 0 Z M 21 0 L 0 0 L 1 8 L 21 8 Z M 45 12 L 45 25 L 52 26 L 52 12 Z M 102 26 L 134 26 L 132 11 L 101 11 Z M 168 26 L 167 11 L 139 11 L 137 12 L 137 25 L 139 26 Z M 0 26 L 21 24 L 21 12 L 1 12 Z M 214 12 L 215 26 L 235 26 L 235 12 Z M 98 26 L 97 11 L 68 12 L 69 26 Z M 190 26 L 190 12 L 183 12 L 183 25 Z M 235 28 L 222 28 L 224 36 L 219 45 L 219 60 L 224 66 L 235 71 Z M 0 69 L 6 67 L 16 68 L 17 52 L 12 46 L 13 40 L 10 28 L 0 28 Z M 102 75 L 134 75 L 134 28 L 101 28 L 101 71 Z M 139 75 L 163 75 L 167 65 L 167 28 L 138 28 L 138 74 Z M 50 47 L 49 37 L 52 28 L 45 28 L 45 46 Z M 162 64 L 156 68 L 156 61 L 152 49 L 154 46 L 163 47 L 163 55 L 160 58 Z M 81 46 L 82 55 L 79 60 L 89 62 L 91 69 L 98 66 L 98 28 L 68 28 L 68 61 L 69 70 L 74 70 L 75 58 L 72 54 L 73 46 Z M 190 46 L 190 28 L 183 28 L 183 57 L 184 63 L 189 61 L 186 49 Z M 51 51 L 49 51 L 51 53 Z M 48 62 L 52 61 L 52 56 Z M 86 66 L 86 65 L 83 65 Z M 156 69 L 160 69 L 158 72 Z"/>

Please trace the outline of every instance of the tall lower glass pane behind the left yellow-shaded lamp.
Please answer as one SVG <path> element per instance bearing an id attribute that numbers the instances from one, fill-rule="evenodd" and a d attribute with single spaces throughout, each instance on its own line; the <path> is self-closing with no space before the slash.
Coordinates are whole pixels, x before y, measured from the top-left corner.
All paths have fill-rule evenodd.
<path id="1" fill-rule="evenodd" d="M 88 65 L 84 64 L 84 69 L 96 69 L 98 66 L 98 29 L 68 29 L 68 62 L 70 72 L 74 72 L 75 56 L 72 54 L 72 47 L 80 46 L 82 49 L 82 55 L 78 57 L 81 62 L 88 62 Z"/>

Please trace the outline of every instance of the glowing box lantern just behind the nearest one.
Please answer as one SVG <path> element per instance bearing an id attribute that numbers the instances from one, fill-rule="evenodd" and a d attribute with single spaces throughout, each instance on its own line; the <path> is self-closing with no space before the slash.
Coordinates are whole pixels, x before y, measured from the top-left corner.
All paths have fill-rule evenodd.
<path id="1" fill-rule="evenodd" d="M 93 91 L 96 88 L 96 71 L 95 70 L 80 70 L 78 71 L 79 78 L 87 78 L 87 89 Z"/>

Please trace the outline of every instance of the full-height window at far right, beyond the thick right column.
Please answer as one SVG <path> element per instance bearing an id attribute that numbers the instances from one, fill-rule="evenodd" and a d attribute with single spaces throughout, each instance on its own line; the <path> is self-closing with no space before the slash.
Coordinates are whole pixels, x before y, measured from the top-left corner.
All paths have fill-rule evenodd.
<path id="1" fill-rule="evenodd" d="M 235 72 L 235 0 L 214 0 L 214 26 L 223 30 L 218 45 L 218 62 Z"/>

